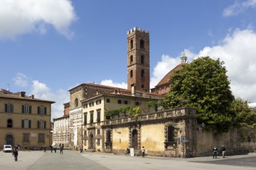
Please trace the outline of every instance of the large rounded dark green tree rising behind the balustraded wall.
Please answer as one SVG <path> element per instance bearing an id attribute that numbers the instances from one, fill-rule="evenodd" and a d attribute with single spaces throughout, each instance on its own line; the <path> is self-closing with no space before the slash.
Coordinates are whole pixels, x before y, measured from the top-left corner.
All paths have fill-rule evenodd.
<path id="1" fill-rule="evenodd" d="M 199 122 L 227 128 L 234 115 L 230 104 L 234 100 L 224 62 L 209 56 L 199 57 L 170 77 L 170 92 L 164 96 L 166 109 L 181 106 L 197 109 Z"/>

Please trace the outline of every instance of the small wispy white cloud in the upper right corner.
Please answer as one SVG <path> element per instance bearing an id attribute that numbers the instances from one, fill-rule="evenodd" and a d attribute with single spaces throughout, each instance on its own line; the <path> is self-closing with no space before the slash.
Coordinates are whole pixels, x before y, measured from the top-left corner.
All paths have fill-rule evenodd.
<path id="1" fill-rule="evenodd" d="M 247 0 L 243 1 L 242 3 L 235 1 L 234 4 L 224 9 L 223 15 L 224 17 L 238 15 L 239 13 L 242 13 L 245 10 L 247 10 L 249 7 L 256 7 L 256 0 Z"/>

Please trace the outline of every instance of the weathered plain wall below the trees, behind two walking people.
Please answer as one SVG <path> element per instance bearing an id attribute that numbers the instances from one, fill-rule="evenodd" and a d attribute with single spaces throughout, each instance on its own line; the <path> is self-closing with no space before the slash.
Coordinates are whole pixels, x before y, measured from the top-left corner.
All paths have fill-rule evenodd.
<path id="1" fill-rule="evenodd" d="M 228 132 L 197 128 L 197 157 L 212 155 L 212 148 L 224 145 L 227 155 L 254 152 L 256 150 L 256 128 L 230 128 Z"/>

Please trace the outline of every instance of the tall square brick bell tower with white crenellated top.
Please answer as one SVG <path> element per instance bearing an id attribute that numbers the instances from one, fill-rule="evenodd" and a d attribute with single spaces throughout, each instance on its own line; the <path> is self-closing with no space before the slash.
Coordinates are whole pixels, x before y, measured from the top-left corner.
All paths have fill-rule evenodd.
<path id="1" fill-rule="evenodd" d="M 150 33 L 140 28 L 127 32 L 127 89 L 150 92 Z"/>

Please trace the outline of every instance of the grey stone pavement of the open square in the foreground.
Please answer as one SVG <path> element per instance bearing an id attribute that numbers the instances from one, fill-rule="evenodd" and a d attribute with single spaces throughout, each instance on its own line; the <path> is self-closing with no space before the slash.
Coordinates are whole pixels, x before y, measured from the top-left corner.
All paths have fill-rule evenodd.
<path id="1" fill-rule="evenodd" d="M 256 153 L 249 155 L 230 156 L 222 159 L 212 157 L 198 157 L 192 159 L 174 159 L 164 157 L 130 157 L 125 155 L 112 155 L 106 153 L 79 153 L 77 151 L 64 151 L 64 154 L 47 151 L 20 151 L 18 161 L 15 162 L 11 153 L 0 152 L 0 170 L 40 170 L 40 169 L 232 169 L 256 170 L 254 160 Z M 245 161 L 245 159 L 249 161 Z M 243 160 L 243 161 L 239 161 Z M 233 161 L 233 162 L 232 162 Z M 221 163 L 220 163 L 221 162 Z M 228 163 L 229 162 L 229 163 Z M 243 162 L 236 165 L 234 162 Z"/>

